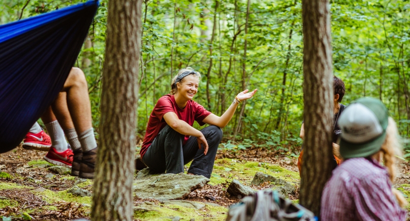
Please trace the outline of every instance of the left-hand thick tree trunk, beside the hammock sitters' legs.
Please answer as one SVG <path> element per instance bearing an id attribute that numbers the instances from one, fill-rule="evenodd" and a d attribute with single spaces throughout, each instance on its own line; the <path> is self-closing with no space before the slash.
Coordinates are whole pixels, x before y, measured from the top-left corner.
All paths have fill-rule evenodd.
<path id="1" fill-rule="evenodd" d="M 93 221 L 132 221 L 141 0 L 108 1 Z"/>

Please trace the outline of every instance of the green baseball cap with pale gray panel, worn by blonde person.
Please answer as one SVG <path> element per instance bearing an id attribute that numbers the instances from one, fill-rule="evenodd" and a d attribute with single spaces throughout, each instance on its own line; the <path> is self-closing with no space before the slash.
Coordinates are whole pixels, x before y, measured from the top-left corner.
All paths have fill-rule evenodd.
<path id="1" fill-rule="evenodd" d="M 341 156 L 349 159 L 377 153 L 386 139 L 388 118 L 387 108 L 378 99 L 364 97 L 350 104 L 338 121 Z"/>

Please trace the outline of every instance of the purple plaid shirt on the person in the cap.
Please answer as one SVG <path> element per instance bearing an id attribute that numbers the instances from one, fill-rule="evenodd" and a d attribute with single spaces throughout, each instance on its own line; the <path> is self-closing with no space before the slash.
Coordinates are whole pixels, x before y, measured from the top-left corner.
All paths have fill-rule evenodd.
<path id="1" fill-rule="evenodd" d="M 387 170 L 377 161 L 353 158 L 333 171 L 322 193 L 321 221 L 405 221 L 391 192 Z"/>

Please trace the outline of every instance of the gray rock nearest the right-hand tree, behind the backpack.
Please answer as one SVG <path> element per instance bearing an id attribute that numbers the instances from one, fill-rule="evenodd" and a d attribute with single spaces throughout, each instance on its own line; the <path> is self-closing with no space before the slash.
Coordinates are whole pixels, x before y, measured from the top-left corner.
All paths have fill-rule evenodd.
<path id="1" fill-rule="evenodd" d="M 278 191 L 285 198 L 287 198 L 288 194 L 294 194 L 296 191 L 295 187 L 292 184 L 284 181 L 283 179 L 279 179 L 262 172 L 257 172 L 255 174 L 251 185 L 259 186 L 264 182 L 270 182 L 272 185 L 274 185 L 274 187 L 272 187 L 272 190 Z"/>

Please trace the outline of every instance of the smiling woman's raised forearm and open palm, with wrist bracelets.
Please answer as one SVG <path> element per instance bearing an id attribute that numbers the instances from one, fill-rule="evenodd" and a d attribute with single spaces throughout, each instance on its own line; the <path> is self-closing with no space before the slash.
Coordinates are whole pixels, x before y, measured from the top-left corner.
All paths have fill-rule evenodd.
<path id="1" fill-rule="evenodd" d="M 236 95 L 236 98 L 238 98 L 241 102 L 244 100 L 248 100 L 252 98 L 252 96 L 256 93 L 257 89 L 254 89 L 251 92 L 248 92 L 248 91 L 249 91 L 248 89 L 242 91 L 241 93 Z M 232 116 L 235 113 L 236 108 L 238 107 L 238 101 L 236 100 L 236 98 L 233 100 L 229 108 L 222 114 L 222 116 L 217 116 L 211 113 L 207 117 L 205 117 L 205 119 L 203 119 L 202 121 L 206 124 L 215 125 L 221 128 L 225 127 L 229 123 L 229 121 L 232 119 Z"/>

